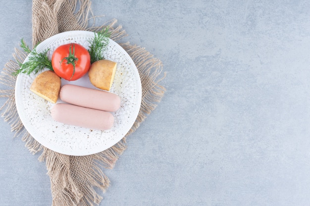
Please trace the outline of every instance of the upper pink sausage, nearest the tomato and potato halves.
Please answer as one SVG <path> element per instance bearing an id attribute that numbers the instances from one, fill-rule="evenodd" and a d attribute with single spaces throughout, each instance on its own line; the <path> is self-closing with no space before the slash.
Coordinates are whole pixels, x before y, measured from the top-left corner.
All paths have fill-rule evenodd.
<path id="1" fill-rule="evenodd" d="M 59 97 L 70 104 L 108 112 L 114 112 L 120 106 L 120 98 L 116 94 L 73 84 L 62 86 Z"/>

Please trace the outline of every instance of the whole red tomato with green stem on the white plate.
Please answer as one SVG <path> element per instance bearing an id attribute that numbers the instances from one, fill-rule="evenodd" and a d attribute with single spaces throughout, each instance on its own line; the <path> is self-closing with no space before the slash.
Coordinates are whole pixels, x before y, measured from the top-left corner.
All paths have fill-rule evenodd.
<path id="1" fill-rule="evenodd" d="M 77 43 L 63 44 L 52 54 L 52 68 L 61 78 L 74 81 L 83 77 L 91 66 L 86 48 Z"/>

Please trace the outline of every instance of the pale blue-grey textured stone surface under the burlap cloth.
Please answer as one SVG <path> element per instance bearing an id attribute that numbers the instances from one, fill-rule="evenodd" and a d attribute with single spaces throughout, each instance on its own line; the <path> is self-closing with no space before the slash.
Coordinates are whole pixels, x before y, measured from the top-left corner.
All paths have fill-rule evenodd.
<path id="1" fill-rule="evenodd" d="M 1 4 L 2 68 L 32 31 L 29 2 Z M 310 205 L 310 1 L 93 0 L 93 11 L 167 72 L 161 103 L 106 170 L 101 206 Z M 0 136 L 0 205 L 51 205 L 45 164 L 3 121 Z"/>

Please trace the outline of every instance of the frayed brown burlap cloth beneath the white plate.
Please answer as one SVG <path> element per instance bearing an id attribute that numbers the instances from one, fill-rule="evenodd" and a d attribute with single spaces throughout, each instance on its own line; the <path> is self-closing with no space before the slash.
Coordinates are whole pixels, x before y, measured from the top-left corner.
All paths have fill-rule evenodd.
<path id="1" fill-rule="evenodd" d="M 104 6 L 103 6 L 104 8 Z M 111 39 L 118 42 L 126 33 L 121 26 L 116 26 L 112 19 L 102 26 L 95 27 L 90 0 L 33 0 L 32 7 L 33 35 L 32 44 L 65 31 L 99 31 L 109 26 Z M 0 97 L 7 98 L 0 108 L 4 121 L 11 125 L 16 136 L 21 136 L 27 148 L 45 161 L 51 179 L 52 206 L 94 206 L 99 205 L 103 197 L 98 191 L 105 191 L 109 179 L 104 175 L 104 168 L 113 168 L 118 157 L 126 149 L 126 137 L 134 132 L 161 100 L 165 88 L 158 84 L 164 78 L 159 77 L 162 70 L 160 60 L 153 57 L 145 48 L 129 43 L 120 43 L 135 62 L 142 82 L 142 104 L 136 122 L 128 134 L 113 147 L 89 156 L 67 156 L 56 153 L 38 143 L 23 127 L 15 106 L 14 86 L 16 77 L 11 73 L 19 68 L 17 60 L 23 62 L 26 54 L 15 49 L 14 60 L 8 61 L 0 75 L 4 89 Z M 100 190 L 98 190 L 98 188 Z M 100 192 L 102 193 L 102 192 Z"/>

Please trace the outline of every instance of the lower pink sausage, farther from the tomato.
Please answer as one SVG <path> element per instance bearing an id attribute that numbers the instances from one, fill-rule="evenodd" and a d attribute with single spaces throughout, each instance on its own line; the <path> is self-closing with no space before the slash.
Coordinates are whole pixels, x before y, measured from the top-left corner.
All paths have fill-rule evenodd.
<path id="1" fill-rule="evenodd" d="M 71 104 L 55 104 L 51 113 L 52 119 L 57 122 L 90 129 L 107 130 L 114 123 L 114 117 L 109 112 Z"/>

